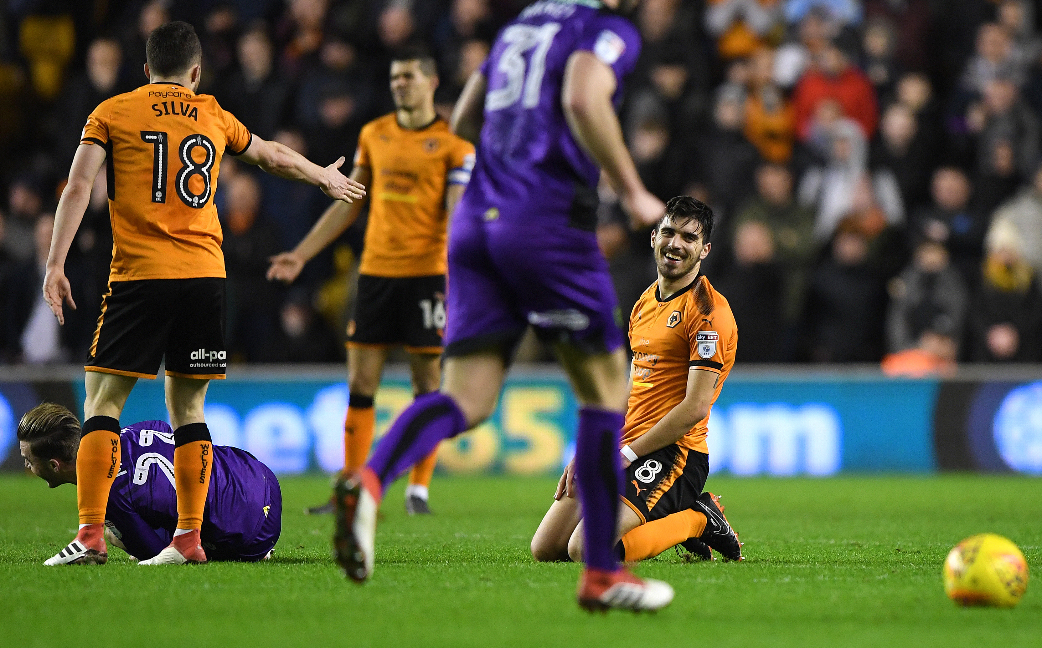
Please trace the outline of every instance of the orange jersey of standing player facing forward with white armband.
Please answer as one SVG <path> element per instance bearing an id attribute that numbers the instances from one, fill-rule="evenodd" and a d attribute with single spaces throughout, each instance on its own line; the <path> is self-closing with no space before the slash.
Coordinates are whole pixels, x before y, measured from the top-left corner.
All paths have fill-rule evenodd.
<path id="1" fill-rule="evenodd" d="M 450 183 L 470 180 L 473 152 L 442 120 L 406 129 L 391 113 L 362 129 L 354 163 L 372 173 L 363 275 L 445 274 L 445 192 Z"/>

